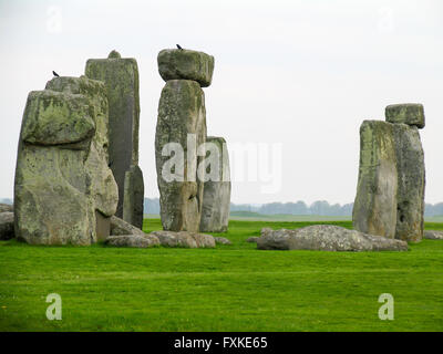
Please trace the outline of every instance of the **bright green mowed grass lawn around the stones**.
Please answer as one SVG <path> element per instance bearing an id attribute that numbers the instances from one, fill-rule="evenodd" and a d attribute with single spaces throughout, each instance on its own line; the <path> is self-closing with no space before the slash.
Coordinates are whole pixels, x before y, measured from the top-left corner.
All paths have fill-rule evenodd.
<path id="1" fill-rule="evenodd" d="M 234 244 L 216 249 L 1 241 L 0 331 L 443 331 L 443 241 L 378 253 L 245 241 L 262 227 L 312 223 L 230 221 Z M 61 321 L 45 317 L 50 293 L 62 296 Z M 393 321 L 378 316 L 382 293 L 394 296 Z"/>

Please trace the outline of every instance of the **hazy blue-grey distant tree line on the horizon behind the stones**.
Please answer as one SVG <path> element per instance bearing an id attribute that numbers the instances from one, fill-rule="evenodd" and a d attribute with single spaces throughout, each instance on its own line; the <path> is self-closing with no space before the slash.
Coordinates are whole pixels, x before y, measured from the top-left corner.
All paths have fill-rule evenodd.
<path id="1" fill-rule="evenodd" d="M 0 199 L 2 204 L 12 204 L 12 199 Z M 305 201 L 296 202 L 269 202 L 260 206 L 250 204 L 230 204 L 231 211 L 253 211 L 265 215 L 289 214 L 289 215 L 321 215 L 321 216 L 351 216 L 353 204 L 333 204 L 330 205 L 326 200 L 318 200 L 308 206 Z M 144 202 L 145 214 L 159 214 L 158 198 L 145 198 Z M 426 204 L 424 209 L 426 217 L 443 216 L 443 202 Z"/>

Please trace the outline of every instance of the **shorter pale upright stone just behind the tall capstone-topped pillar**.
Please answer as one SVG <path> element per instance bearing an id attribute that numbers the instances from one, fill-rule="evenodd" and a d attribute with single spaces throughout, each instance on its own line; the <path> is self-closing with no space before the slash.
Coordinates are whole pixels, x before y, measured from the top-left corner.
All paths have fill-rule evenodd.
<path id="1" fill-rule="evenodd" d="M 230 209 L 230 171 L 226 140 L 223 137 L 206 138 L 208 152 L 204 166 L 206 181 L 203 194 L 200 231 L 226 232 Z"/>

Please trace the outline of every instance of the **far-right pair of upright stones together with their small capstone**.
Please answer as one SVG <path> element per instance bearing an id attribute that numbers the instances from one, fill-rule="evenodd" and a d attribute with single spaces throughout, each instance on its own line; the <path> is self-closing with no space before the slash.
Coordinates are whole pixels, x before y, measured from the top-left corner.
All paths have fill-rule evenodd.
<path id="1" fill-rule="evenodd" d="M 423 106 L 390 105 L 385 115 L 388 122 L 365 121 L 360 131 L 353 225 L 365 233 L 418 242 L 424 225 Z"/>

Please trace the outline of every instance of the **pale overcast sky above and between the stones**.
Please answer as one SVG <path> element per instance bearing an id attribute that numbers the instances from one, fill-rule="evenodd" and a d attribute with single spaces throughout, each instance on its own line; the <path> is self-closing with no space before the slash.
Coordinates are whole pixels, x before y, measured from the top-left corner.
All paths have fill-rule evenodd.
<path id="1" fill-rule="evenodd" d="M 156 58 L 176 43 L 215 56 L 204 88 L 208 135 L 281 144 L 281 186 L 234 181 L 234 202 L 353 201 L 359 126 L 403 102 L 424 104 L 426 201 L 443 201 L 440 0 L 0 0 L 0 198 L 13 194 L 28 93 L 43 90 L 52 70 L 79 76 L 87 59 L 113 49 L 138 62 L 140 165 L 145 195 L 157 197 Z"/>

